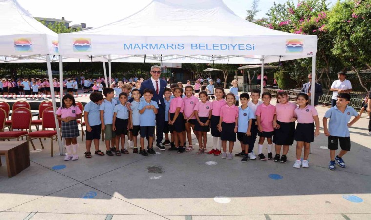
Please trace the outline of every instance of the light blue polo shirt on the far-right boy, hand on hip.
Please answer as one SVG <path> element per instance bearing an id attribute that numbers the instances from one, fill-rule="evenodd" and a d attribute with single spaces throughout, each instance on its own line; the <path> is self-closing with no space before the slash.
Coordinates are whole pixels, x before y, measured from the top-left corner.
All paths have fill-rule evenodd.
<path id="1" fill-rule="evenodd" d="M 325 118 L 329 120 L 329 133 L 331 136 L 336 137 L 349 137 L 348 122 L 351 116 L 357 117 L 358 112 L 353 107 L 347 106 L 344 113 L 341 112 L 337 106 L 332 107 L 325 113 Z"/>

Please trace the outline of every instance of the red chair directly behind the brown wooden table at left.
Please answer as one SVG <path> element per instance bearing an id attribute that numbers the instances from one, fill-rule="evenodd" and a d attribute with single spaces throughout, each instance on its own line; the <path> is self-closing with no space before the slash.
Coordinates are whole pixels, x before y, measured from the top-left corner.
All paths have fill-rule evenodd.
<path id="1" fill-rule="evenodd" d="M 15 139 L 19 140 L 21 137 L 26 137 L 28 132 L 31 131 L 31 119 L 32 113 L 31 110 L 19 107 L 13 110 L 12 113 L 12 129 L 8 132 L 0 132 L 0 139 Z M 21 129 L 21 131 L 14 131 L 14 129 Z M 23 129 L 25 131 L 23 131 Z M 32 145 L 35 149 L 35 146 Z"/>

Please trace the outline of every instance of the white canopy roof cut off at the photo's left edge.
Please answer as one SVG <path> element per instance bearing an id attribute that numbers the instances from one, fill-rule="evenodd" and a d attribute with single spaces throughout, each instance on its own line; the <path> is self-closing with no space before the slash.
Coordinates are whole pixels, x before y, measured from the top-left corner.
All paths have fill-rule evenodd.
<path id="1" fill-rule="evenodd" d="M 57 34 L 34 19 L 16 0 L 0 0 L 0 21 L 0 55 L 57 53 Z"/>

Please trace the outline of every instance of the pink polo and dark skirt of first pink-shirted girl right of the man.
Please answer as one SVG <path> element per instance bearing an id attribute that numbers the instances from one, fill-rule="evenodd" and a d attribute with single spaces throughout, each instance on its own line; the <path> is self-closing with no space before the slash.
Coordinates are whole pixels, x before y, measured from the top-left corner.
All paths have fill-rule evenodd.
<path id="1" fill-rule="evenodd" d="M 184 110 L 184 103 L 183 99 L 179 96 L 177 98 L 174 98 L 170 101 L 170 121 L 174 119 L 175 111 L 177 108 L 180 108 L 179 115 L 175 119 L 174 123 L 169 126 L 170 132 L 176 131 L 177 133 L 181 133 L 182 131 L 186 131 L 186 126 L 184 125 L 183 120 L 183 110 Z"/>

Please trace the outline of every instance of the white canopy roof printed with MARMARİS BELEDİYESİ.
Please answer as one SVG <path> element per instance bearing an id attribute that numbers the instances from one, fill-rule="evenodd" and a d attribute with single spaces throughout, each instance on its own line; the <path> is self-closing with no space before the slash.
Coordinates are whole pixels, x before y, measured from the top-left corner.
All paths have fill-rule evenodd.
<path id="1" fill-rule="evenodd" d="M 316 35 L 291 34 L 247 22 L 222 0 L 153 0 L 122 20 L 85 31 L 59 34 L 58 38 L 60 53 L 65 55 L 147 54 L 152 57 L 155 54 L 157 61 L 161 60 L 160 54 L 215 57 L 224 54 L 227 55 L 224 63 L 260 63 L 263 56 L 265 62 L 274 62 L 311 57 L 317 51 Z M 238 61 L 234 61 L 236 59 Z M 125 60 L 135 62 L 137 58 L 127 57 Z M 212 60 L 201 59 L 199 63 Z M 165 62 L 197 63 L 187 57 Z"/>

